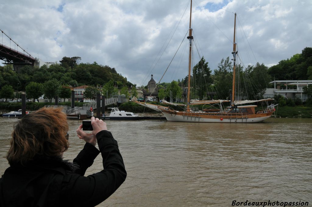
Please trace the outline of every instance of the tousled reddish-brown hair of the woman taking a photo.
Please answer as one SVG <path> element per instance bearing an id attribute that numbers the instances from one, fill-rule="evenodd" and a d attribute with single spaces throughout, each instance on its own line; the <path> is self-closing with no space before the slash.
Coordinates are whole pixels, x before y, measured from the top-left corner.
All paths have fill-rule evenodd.
<path id="1" fill-rule="evenodd" d="M 26 165 L 35 156 L 58 157 L 68 149 L 68 124 L 61 108 L 41 108 L 14 125 L 7 160 Z"/>

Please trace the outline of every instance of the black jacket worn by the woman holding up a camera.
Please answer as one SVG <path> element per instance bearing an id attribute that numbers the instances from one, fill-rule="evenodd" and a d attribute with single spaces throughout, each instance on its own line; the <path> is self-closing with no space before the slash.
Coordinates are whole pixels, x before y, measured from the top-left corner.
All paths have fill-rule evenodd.
<path id="1" fill-rule="evenodd" d="M 95 206 L 107 199 L 127 173 L 112 134 L 103 130 L 96 138 L 100 151 L 86 143 L 74 163 L 36 159 L 7 168 L 0 178 L 0 206 Z M 104 169 L 85 177 L 100 152 Z"/>

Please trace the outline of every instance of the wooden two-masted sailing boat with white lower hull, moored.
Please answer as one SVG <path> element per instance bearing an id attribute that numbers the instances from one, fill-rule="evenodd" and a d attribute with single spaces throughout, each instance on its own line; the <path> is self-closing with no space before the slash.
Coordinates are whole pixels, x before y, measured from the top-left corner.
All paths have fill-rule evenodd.
<path id="1" fill-rule="evenodd" d="M 155 105 L 151 103 L 138 102 L 134 97 L 133 102 L 143 105 L 147 108 L 154 109 L 156 111 L 162 112 L 168 121 L 178 121 L 178 122 L 224 122 L 224 123 L 257 123 L 269 118 L 275 111 L 275 105 L 269 105 L 268 101 L 272 99 L 262 99 L 262 100 L 243 100 L 235 101 L 235 70 L 236 70 L 236 43 L 235 43 L 235 30 L 236 30 L 236 13 L 234 20 L 234 41 L 233 41 L 233 82 L 232 82 L 232 98 L 231 100 L 207 100 L 207 101 L 191 101 L 190 100 L 190 81 L 191 81 L 191 61 L 192 61 L 192 0 L 191 0 L 191 12 L 190 12 L 190 27 L 189 27 L 189 61 L 188 61 L 188 94 L 187 94 L 187 105 L 185 111 L 177 111 L 172 108 Z M 227 108 L 222 108 L 223 102 L 231 102 L 231 106 Z M 265 109 L 256 110 L 257 105 L 242 105 L 251 104 L 256 102 L 266 102 L 267 107 Z M 163 102 L 168 103 L 168 102 Z M 170 103 L 169 103 L 170 104 Z M 208 109 L 203 111 L 194 111 L 190 105 L 199 104 L 218 104 L 220 106 L 219 110 Z M 173 105 L 183 105 L 176 104 Z"/>

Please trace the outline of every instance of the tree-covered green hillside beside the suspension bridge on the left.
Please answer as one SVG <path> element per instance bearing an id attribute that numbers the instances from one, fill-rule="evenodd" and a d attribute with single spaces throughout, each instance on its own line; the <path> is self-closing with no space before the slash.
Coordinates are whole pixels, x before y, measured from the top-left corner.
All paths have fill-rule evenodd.
<path id="1" fill-rule="evenodd" d="M 103 86 L 110 80 L 118 88 L 134 85 L 118 74 L 115 68 L 98 65 L 96 62 L 90 64 L 80 61 L 80 57 L 63 57 L 61 64 L 56 63 L 49 67 L 43 65 L 40 68 L 25 65 L 17 71 L 13 71 L 12 65 L 0 66 L 0 89 L 4 85 L 12 85 L 14 90 L 25 91 L 30 82 L 43 84 L 51 79 L 57 79 L 62 85 L 68 84 L 72 87 Z"/>

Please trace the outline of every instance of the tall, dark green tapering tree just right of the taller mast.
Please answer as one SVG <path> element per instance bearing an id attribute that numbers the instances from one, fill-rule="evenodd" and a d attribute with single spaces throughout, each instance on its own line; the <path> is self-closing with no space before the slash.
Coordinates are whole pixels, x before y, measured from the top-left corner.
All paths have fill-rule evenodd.
<path id="1" fill-rule="evenodd" d="M 195 96 L 197 96 L 199 100 L 207 96 L 210 73 L 208 62 L 206 62 L 204 57 L 193 67 L 193 91 L 196 92 Z"/>

